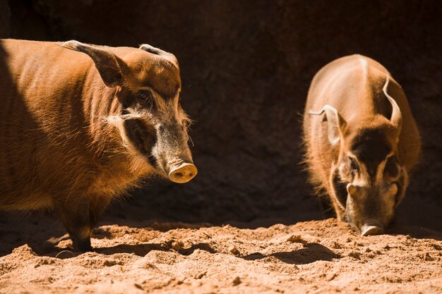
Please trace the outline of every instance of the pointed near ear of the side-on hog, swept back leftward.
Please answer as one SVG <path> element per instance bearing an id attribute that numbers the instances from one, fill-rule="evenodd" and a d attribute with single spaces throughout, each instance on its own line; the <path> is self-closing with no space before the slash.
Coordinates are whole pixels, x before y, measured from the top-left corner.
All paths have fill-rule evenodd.
<path id="1" fill-rule="evenodd" d="M 111 51 L 83 44 L 75 40 L 64 42 L 61 46 L 88 54 L 92 61 L 94 61 L 95 67 L 97 68 L 98 73 L 100 73 L 104 85 L 107 85 L 107 87 L 116 87 L 117 85 L 122 84 L 123 78 L 121 75 L 119 60 Z"/>

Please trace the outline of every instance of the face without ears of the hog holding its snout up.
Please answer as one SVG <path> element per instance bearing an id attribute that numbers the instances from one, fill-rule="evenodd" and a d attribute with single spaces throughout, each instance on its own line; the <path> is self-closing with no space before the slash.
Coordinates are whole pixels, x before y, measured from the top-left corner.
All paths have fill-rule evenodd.
<path id="1" fill-rule="evenodd" d="M 160 174 L 186 183 L 197 170 L 188 145 L 191 121 L 179 99 L 179 68 L 172 54 L 155 53 L 137 52 L 124 59 L 126 74 L 118 95 L 123 104 L 123 133 L 127 143 Z"/>

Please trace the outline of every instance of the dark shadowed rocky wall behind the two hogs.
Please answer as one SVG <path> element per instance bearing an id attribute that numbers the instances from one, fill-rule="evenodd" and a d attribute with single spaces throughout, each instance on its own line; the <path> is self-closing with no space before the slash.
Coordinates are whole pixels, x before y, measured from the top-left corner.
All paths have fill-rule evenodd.
<path id="1" fill-rule="evenodd" d="M 309 82 L 340 56 L 370 56 L 400 82 L 422 134 L 398 219 L 442 230 L 440 1 L 0 0 L 0 37 L 148 43 L 179 59 L 199 174 L 151 182 L 114 203 L 109 221 L 321 219 L 299 165 Z"/>

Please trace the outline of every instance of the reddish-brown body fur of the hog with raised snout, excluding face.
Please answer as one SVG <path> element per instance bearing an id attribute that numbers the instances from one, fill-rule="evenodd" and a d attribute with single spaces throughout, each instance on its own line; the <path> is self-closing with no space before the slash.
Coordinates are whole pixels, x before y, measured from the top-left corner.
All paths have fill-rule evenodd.
<path id="1" fill-rule="evenodd" d="M 126 90 L 148 86 L 177 97 L 181 80 L 172 54 L 99 48 L 124 60 Z M 4 39 L 0 61 L 0 209 L 56 209 L 66 225 L 75 219 L 66 207 L 88 203 L 96 223 L 112 198 L 154 173 L 107 120 L 121 115 L 122 88 L 104 85 L 90 56 L 58 42 Z"/>

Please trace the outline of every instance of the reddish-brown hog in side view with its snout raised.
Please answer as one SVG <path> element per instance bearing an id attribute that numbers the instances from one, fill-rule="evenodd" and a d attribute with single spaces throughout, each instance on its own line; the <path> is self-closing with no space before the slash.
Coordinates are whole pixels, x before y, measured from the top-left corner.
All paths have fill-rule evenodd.
<path id="1" fill-rule="evenodd" d="M 54 209 L 87 251 L 107 204 L 197 173 L 174 55 L 149 45 L 0 40 L 0 209 Z"/>

